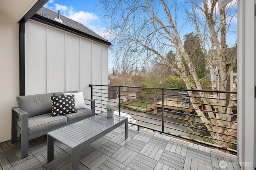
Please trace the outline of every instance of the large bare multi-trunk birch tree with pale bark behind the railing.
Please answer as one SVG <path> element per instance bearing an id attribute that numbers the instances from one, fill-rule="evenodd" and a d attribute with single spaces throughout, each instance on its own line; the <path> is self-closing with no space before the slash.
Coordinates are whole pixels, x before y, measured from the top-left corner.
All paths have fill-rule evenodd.
<path id="1" fill-rule="evenodd" d="M 210 71 L 212 89 L 217 90 L 215 71 L 218 69 L 219 90 L 226 91 L 228 77 L 237 61 L 236 43 L 232 45 L 233 48 L 228 48 L 227 44 L 227 36 L 236 33 L 236 27 L 233 26 L 236 24 L 232 23 L 236 18 L 236 2 L 231 2 L 221 10 L 217 8 L 218 0 L 101 0 L 100 4 L 110 21 L 117 57 L 129 58 L 133 62 L 159 58 L 184 80 L 187 89 L 202 90 L 196 66 L 181 39 L 182 34 L 189 29 L 189 33 L 198 35 Z M 170 50 L 177 53 L 175 65 L 165 57 Z M 186 68 L 196 86 L 190 82 Z M 232 91 L 236 91 L 236 81 Z M 189 95 L 193 96 L 192 92 Z M 227 108 L 234 106 L 236 94 L 230 95 L 230 99 L 233 99 L 228 103 L 230 107 L 226 107 L 225 93 L 215 99 L 204 98 L 204 92 L 200 92 L 200 96 L 209 117 L 200 111 L 194 98 L 190 98 L 196 113 L 211 131 L 212 137 L 218 139 L 215 143 L 228 147 L 223 141 L 230 141 L 236 136 L 236 122 L 230 123 L 232 109 Z"/>

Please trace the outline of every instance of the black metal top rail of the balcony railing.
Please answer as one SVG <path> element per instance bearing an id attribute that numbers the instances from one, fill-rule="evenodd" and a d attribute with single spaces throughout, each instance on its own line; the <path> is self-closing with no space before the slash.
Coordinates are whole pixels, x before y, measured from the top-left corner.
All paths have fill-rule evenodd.
<path id="1" fill-rule="evenodd" d="M 89 84 L 91 86 L 106 86 L 106 87 L 122 87 L 122 88 L 146 88 L 146 89 L 157 89 L 157 90 L 187 90 L 191 92 L 211 92 L 211 93 L 229 93 L 229 94 L 236 94 L 237 92 L 225 92 L 225 91 L 218 91 L 218 90 L 194 90 L 194 89 L 179 89 L 179 88 L 156 88 L 156 87 L 132 87 L 132 86 L 113 86 L 113 85 L 98 85 L 98 84 Z"/>

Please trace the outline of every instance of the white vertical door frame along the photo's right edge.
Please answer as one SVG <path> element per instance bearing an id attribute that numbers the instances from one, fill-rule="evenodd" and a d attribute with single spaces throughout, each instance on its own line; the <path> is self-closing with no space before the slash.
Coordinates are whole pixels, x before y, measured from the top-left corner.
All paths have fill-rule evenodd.
<path id="1" fill-rule="evenodd" d="M 256 168 L 256 0 L 238 0 L 238 160 Z"/>

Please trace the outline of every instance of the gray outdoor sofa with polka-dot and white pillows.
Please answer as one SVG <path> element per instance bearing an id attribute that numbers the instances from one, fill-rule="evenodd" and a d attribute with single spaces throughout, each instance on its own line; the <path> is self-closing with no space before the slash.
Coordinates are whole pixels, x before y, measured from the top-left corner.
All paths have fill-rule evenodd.
<path id="1" fill-rule="evenodd" d="M 28 156 L 28 141 L 30 139 L 46 135 L 50 131 L 95 115 L 95 101 L 84 99 L 83 96 L 81 101 L 81 95 L 83 95 L 81 93 L 70 91 L 17 96 L 18 107 L 12 107 L 12 143 L 17 142 L 17 132 L 19 131 L 22 158 Z M 74 103 L 72 103 L 73 100 Z M 91 102 L 91 109 L 85 106 L 84 100 Z M 80 102 L 79 107 L 78 101 Z M 74 104 L 75 107 L 72 106 Z M 76 112 L 63 113 L 67 109 L 69 112 Z"/>

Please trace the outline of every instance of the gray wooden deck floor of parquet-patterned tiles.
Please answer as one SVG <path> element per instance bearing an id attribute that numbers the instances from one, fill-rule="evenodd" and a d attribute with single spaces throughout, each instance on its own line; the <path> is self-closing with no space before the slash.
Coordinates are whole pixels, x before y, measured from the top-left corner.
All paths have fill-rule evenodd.
<path id="1" fill-rule="evenodd" d="M 29 156 L 23 159 L 19 142 L 0 143 L 0 170 L 71 169 L 70 148 L 54 141 L 54 160 L 47 162 L 46 136 L 29 142 Z M 80 170 L 240 170 L 232 165 L 238 162 L 233 155 L 136 127 L 129 127 L 124 141 L 124 125 L 80 150 L 79 156 Z"/>

